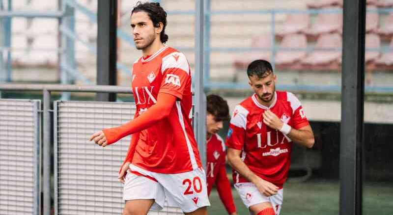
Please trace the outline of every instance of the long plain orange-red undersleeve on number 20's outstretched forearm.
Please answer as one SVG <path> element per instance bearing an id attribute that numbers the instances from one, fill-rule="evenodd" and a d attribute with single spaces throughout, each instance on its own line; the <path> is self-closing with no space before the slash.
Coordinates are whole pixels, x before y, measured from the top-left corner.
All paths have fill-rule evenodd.
<path id="1" fill-rule="evenodd" d="M 140 132 L 167 117 L 175 102 L 176 97 L 173 95 L 159 93 L 157 103 L 148 108 L 142 115 L 119 127 L 104 129 L 103 132 L 108 144 L 117 142 L 127 135 Z"/>

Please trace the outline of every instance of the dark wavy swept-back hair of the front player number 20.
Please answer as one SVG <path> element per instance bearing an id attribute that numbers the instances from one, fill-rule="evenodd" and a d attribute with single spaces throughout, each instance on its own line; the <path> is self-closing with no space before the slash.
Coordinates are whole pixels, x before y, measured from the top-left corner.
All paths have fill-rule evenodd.
<path id="1" fill-rule="evenodd" d="M 132 9 L 131 15 L 136 12 L 146 12 L 150 20 L 153 22 L 154 27 L 160 27 L 160 23 L 163 24 L 163 30 L 160 33 L 160 40 L 162 43 L 168 41 L 168 35 L 165 33 L 165 27 L 167 27 L 167 12 L 160 6 L 160 3 L 156 2 L 140 2 L 138 1 L 134 9 Z"/>

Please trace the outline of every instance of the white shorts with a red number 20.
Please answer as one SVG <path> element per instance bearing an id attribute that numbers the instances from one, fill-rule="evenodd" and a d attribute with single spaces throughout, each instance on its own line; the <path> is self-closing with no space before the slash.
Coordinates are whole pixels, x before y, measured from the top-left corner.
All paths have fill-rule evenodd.
<path id="1" fill-rule="evenodd" d="M 130 164 L 124 183 L 123 199 L 154 199 L 152 210 L 162 210 L 165 199 L 168 206 L 179 207 L 184 213 L 210 206 L 207 197 L 206 174 L 202 168 L 193 171 L 163 174 L 150 172 Z"/>

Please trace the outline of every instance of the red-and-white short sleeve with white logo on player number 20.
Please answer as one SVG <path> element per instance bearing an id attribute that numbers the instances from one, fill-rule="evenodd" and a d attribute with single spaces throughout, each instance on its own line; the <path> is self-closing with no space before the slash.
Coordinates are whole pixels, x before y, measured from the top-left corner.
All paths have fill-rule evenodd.
<path id="1" fill-rule="evenodd" d="M 184 88 L 191 80 L 190 66 L 186 56 L 178 52 L 168 54 L 163 58 L 161 71 L 163 81 L 159 92 L 174 95 L 181 100 Z"/>

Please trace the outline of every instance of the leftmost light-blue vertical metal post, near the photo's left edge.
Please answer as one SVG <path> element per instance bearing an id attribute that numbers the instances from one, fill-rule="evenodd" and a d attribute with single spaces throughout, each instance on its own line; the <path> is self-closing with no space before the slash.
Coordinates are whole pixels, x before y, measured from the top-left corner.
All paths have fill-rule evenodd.
<path id="1" fill-rule="evenodd" d="M 12 11 L 12 0 L 8 0 L 8 11 Z M 12 34 L 12 25 L 11 25 L 11 17 L 7 17 L 4 19 L 4 46 L 11 48 L 11 34 Z M 7 50 L 7 63 L 5 65 L 6 76 L 5 82 L 10 82 L 12 77 L 12 59 L 11 59 L 11 50 Z"/>

